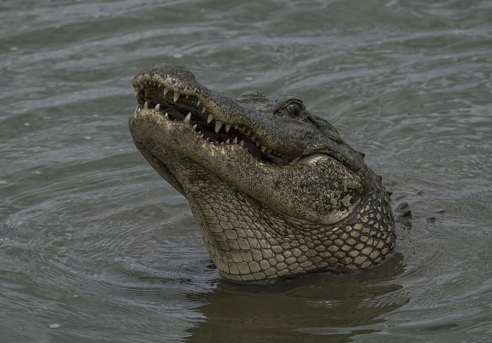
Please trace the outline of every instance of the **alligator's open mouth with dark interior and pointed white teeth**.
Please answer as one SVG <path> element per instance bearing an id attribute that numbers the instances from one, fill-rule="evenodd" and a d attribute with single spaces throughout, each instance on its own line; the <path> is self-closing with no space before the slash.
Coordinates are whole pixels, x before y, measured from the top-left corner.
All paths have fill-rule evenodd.
<path id="1" fill-rule="evenodd" d="M 250 127 L 215 120 L 217 114 L 207 109 L 205 99 L 197 94 L 180 94 L 172 85 L 144 77 L 135 79 L 133 85 L 139 105 L 135 112 L 143 108 L 154 108 L 165 119 L 189 124 L 209 144 L 239 145 L 260 162 L 287 165 L 294 164 L 299 158 L 268 148 Z"/>

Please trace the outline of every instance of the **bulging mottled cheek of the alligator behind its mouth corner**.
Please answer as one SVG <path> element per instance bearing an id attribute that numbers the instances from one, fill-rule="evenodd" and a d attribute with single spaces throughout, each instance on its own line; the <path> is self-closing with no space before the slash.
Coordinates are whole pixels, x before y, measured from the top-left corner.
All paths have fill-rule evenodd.
<path id="1" fill-rule="evenodd" d="M 363 182 L 330 157 L 292 166 L 247 161 L 235 173 L 235 161 L 219 162 L 216 173 L 263 204 L 290 217 L 316 224 L 333 224 L 359 205 Z"/>

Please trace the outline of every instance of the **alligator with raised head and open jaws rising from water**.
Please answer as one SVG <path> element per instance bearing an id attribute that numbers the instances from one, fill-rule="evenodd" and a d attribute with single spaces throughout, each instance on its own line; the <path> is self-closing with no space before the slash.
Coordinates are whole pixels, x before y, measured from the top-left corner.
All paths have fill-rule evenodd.
<path id="1" fill-rule="evenodd" d="M 186 197 L 224 278 L 360 271 L 391 255 L 395 224 L 381 177 L 299 98 L 233 100 L 165 63 L 132 84 L 135 146 Z"/>

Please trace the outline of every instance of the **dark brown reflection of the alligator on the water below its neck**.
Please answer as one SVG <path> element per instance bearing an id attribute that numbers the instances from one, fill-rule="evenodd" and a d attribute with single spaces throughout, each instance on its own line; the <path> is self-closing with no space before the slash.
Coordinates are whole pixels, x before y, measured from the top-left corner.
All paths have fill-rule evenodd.
<path id="1" fill-rule="evenodd" d="M 408 303 L 395 282 L 402 272 L 396 254 L 357 275 L 318 274 L 269 286 L 219 282 L 199 296 L 207 320 L 187 330 L 187 341 L 352 342 L 384 331 L 382 315 Z"/>

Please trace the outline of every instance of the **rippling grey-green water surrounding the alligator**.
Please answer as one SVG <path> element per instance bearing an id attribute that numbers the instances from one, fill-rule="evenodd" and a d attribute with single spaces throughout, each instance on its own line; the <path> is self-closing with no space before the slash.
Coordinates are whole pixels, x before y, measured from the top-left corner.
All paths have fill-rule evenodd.
<path id="1" fill-rule="evenodd" d="M 220 279 L 128 133 L 154 62 L 304 99 L 409 204 L 395 255 Z M 492 340 L 492 1 L 3 0 L 0 73 L 0 342 Z"/>

